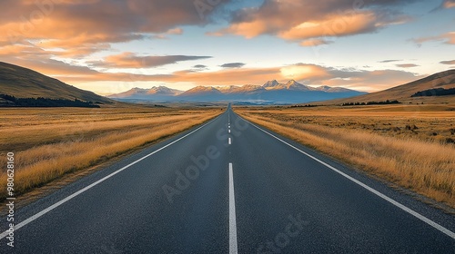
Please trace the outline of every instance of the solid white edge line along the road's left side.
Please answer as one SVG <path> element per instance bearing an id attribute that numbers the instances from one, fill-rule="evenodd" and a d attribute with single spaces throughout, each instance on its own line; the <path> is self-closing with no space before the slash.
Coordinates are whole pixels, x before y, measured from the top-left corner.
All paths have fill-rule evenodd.
<path id="1" fill-rule="evenodd" d="M 218 115 L 215 119 L 212 119 L 210 122 L 214 122 L 218 117 L 219 117 L 219 115 Z M 55 204 L 49 206 L 49 207 L 46 208 L 45 210 L 41 210 L 41 211 L 39 211 L 38 213 L 36 213 L 35 215 L 32 215 L 31 217 L 29 217 L 28 219 L 23 220 L 22 222 L 16 224 L 14 229 L 15 229 L 15 230 L 19 230 L 20 228 L 24 227 L 26 224 L 28 224 L 28 223 L 30 223 L 30 222 L 32 222 L 32 221 L 34 221 L 34 220 L 40 218 L 41 216 L 45 215 L 47 212 L 49 212 L 49 211 L 51 211 L 51 210 L 54 210 L 54 209 L 56 209 L 57 207 L 59 207 L 60 205 L 66 203 L 66 201 L 71 200 L 71 199 L 75 198 L 76 196 L 78 196 L 79 194 L 85 192 L 86 190 L 89 190 L 89 189 L 93 188 L 94 186 L 98 185 L 99 183 L 101 183 L 101 182 L 103 182 L 103 181 L 106 181 L 107 179 L 109 179 L 109 178 L 115 176 L 117 173 L 119 173 L 119 172 L 121 172 L 121 171 L 125 171 L 127 168 L 131 167 L 132 165 L 136 164 L 137 162 L 142 161 L 142 160 L 146 159 L 147 157 L 149 157 L 149 156 L 151 156 L 151 155 L 157 153 L 158 151 L 161 151 L 161 150 L 167 148 L 168 146 L 170 146 L 170 145 L 172 145 L 172 144 L 174 144 L 174 143 L 176 143 L 176 142 L 179 142 L 179 141 L 185 139 L 187 136 L 189 136 L 189 135 L 191 135 L 192 133 L 197 132 L 198 130 L 202 129 L 204 126 L 206 126 L 206 125 L 209 124 L 210 122 L 207 122 L 207 123 L 205 123 L 204 125 L 198 127 L 198 128 L 197 128 L 196 130 L 194 130 L 193 132 L 189 132 L 189 133 L 187 133 L 185 136 L 180 137 L 180 138 L 178 138 L 177 140 L 168 143 L 167 145 L 163 146 L 162 148 L 160 148 L 160 149 L 158 149 L 158 150 L 156 150 L 156 151 L 152 151 L 151 153 L 148 153 L 146 156 L 144 156 L 144 157 L 142 157 L 142 158 L 140 158 L 140 159 L 138 159 L 138 160 L 136 160 L 136 161 L 133 161 L 133 162 L 127 164 L 125 167 L 123 167 L 123 168 L 121 168 L 121 169 L 119 169 L 119 170 L 117 170 L 117 171 L 114 171 L 114 172 L 112 172 L 112 173 L 106 175 L 104 178 L 102 178 L 102 179 L 100 179 L 100 180 L 98 180 L 98 181 L 93 182 L 92 184 L 86 186 L 85 188 L 83 188 L 83 189 L 81 189 L 81 190 L 77 190 L 75 193 L 73 193 L 73 194 L 67 196 L 65 199 L 56 202 Z M 8 235 L 8 233 L 9 233 L 8 231 L 2 232 L 2 233 L 0 234 L 0 239 L 4 239 L 4 238 Z"/>

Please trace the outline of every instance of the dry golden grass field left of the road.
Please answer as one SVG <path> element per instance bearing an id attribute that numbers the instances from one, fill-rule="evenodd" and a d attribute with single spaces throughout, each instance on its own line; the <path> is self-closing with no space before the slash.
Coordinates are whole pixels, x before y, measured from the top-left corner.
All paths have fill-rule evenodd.
<path id="1" fill-rule="evenodd" d="M 15 153 L 15 194 L 83 171 L 217 116 L 219 109 L 4 108 L 0 153 Z M 6 161 L 0 160 L 6 168 Z M 6 186 L 5 171 L 0 185 Z M 0 200 L 5 200 L 5 189 Z"/>

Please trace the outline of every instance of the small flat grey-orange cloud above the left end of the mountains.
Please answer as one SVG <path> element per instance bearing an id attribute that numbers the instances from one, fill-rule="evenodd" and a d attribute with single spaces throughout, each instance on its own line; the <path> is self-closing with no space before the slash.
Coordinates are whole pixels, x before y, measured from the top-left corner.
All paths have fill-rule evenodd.
<path id="1" fill-rule="evenodd" d="M 107 56 L 103 61 L 95 61 L 90 64 L 96 67 L 114 68 L 151 68 L 177 62 L 207 59 L 211 56 L 197 55 L 147 55 L 138 56 L 131 52 Z"/>

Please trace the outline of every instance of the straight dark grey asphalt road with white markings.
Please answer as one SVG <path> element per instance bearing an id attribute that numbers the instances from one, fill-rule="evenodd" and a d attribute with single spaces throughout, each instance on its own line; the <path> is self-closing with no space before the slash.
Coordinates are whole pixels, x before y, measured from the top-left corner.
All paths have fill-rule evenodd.
<path id="1" fill-rule="evenodd" d="M 6 220 L 0 253 L 455 253 L 454 216 L 230 107 Z"/>

